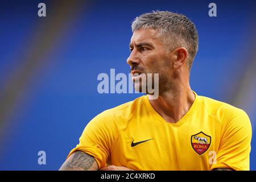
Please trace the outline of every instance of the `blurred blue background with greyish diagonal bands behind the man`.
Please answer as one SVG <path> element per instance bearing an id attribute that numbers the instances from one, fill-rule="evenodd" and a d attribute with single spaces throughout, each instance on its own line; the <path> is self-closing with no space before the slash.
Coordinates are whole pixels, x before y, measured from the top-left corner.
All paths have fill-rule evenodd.
<path id="1" fill-rule="evenodd" d="M 38 4 L 46 3 L 46 17 Z M 217 5 L 217 17 L 208 5 Z M 0 169 L 57 170 L 86 124 L 140 94 L 100 94 L 100 73 L 129 73 L 130 26 L 152 10 L 188 16 L 199 32 L 197 94 L 245 110 L 256 169 L 256 1 L 1 1 Z M 46 152 L 46 165 L 38 152 Z"/>

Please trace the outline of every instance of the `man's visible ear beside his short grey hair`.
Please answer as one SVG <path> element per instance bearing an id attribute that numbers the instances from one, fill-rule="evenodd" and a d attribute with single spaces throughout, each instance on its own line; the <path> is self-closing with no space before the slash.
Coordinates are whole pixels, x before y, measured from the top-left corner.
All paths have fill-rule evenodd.
<path id="1" fill-rule="evenodd" d="M 173 68 L 174 69 L 181 68 L 186 63 L 186 61 L 188 59 L 187 49 L 184 47 L 179 47 L 179 48 L 174 49 L 174 51 L 172 51 L 172 53 L 174 55 Z"/>

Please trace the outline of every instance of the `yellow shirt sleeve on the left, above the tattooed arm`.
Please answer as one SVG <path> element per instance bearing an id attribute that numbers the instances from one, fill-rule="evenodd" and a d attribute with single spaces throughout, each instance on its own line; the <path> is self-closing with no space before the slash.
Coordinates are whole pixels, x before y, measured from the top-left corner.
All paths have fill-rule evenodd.
<path id="1" fill-rule="evenodd" d="M 108 163 L 112 144 L 117 135 L 114 119 L 103 112 L 88 123 L 82 132 L 79 144 L 69 152 L 67 158 L 73 152 L 79 150 L 93 156 L 99 169 L 105 167 Z"/>

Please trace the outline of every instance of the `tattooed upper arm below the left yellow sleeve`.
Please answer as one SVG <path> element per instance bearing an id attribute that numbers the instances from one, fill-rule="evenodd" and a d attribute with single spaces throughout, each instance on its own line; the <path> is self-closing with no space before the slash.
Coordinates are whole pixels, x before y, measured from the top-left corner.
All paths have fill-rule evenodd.
<path id="1" fill-rule="evenodd" d="M 90 156 L 82 151 L 74 152 L 63 163 L 60 171 L 97 171 L 98 164 L 93 156 Z"/>

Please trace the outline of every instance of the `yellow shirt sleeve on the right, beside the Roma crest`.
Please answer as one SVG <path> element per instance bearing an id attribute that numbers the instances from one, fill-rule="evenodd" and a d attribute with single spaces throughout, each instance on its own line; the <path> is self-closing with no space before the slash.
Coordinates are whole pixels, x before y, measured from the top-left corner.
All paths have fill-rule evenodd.
<path id="1" fill-rule="evenodd" d="M 251 123 L 241 109 L 227 109 L 222 118 L 221 142 L 214 168 L 250 169 Z"/>

